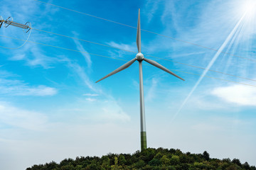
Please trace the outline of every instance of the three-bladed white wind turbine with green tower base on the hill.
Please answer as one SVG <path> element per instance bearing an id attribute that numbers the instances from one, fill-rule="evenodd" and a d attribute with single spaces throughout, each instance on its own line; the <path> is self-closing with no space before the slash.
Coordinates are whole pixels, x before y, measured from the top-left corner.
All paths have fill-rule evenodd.
<path id="1" fill-rule="evenodd" d="M 166 69 L 166 67 L 162 66 L 161 64 L 144 58 L 144 55 L 142 54 L 142 43 L 141 43 L 141 28 L 140 28 L 140 15 L 138 14 L 138 26 L 137 26 L 137 48 L 138 53 L 136 57 L 123 64 L 118 69 L 115 69 L 110 74 L 107 74 L 107 76 L 103 77 L 102 79 L 106 79 L 107 77 L 112 76 L 113 74 L 116 74 L 117 72 L 121 72 L 123 69 L 127 69 L 130 65 L 132 65 L 136 60 L 139 62 L 139 97 L 140 97 L 140 124 L 141 124 L 141 149 L 146 149 L 146 123 L 145 123 L 145 108 L 144 108 L 144 91 L 143 91 L 143 75 L 142 75 L 142 61 L 148 62 L 149 64 L 154 65 L 155 67 L 158 67 L 159 69 L 164 70 L 165 72 L 168 72 L 169 74 L 178 77 L 178 75 L 171 72 L 169 69 Z M 102 81 L 102 79 L 96 81 Z M 178 77 L 178 79 L 182 79 L 181 77 Z M 184 81 L 184 79 L 182 79 Z"/>

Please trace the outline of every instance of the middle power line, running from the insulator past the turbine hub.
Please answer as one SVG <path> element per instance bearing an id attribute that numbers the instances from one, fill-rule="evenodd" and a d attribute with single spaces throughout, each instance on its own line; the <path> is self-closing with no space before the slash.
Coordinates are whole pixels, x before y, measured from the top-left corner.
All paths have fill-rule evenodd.
<path id="1" fill-rule="evenodd" d="M 59 34 L 59 33 L 53 33 L 53 32 L 50 32 L 50 31 L 46 31 L 46 30 L 39 30 L 37 28 L 31 28 L 33 30 L 38 30 L 38 31 L 41 31 L 41 32 L 45 32 L 45 33 L 50 33 L 50 34 L 53 34 L 53 35 L 59 35 L 59 36 L 62 36 L 62 37 L 65 37 L 65 38 L 72 38 L 74 40 L 80 40 L 80 41 L 84 41 L 84 42 L 90 42 L 92 44 L 95 44 L 95 45 L 102 45 L 102 46 L 105 46 L 105 47 L 111 47 L 111 48 L 114 48 L 114 49 L 117 49 L 117 50 L 123 50 L 123 51 L 126 51 L 126 52 L 133 52 L 133 51 L 130 51 L 130 50 L 124 50 L 122 48 L 118 48 L 118 47 L 113 47 L 111 45 L 103 45 L 101 43 L 98 43 L 98 42 L 92 42 L 92 41 L 88 41 L 88 40 L 83 40 L 83 39 L 80 39 L 80 38 L 74 38 L 74 37 L 70 37 L 68 35 L 62 35 L 62 34 Z M 137 54 L 137 52 L 133 52 L 134 54 Z M 183 62 L 175 62 L 173 60 L 167 60 L 167 59 L 164 59 L 164 58 L 161 58 L 161 57 L 155 57 L 153 55 L 146 55 L 144 54 L 145 56 L 149 56 L 149 57 L 154 57 L 154 58 L 157 58 L 159 60 L 166 60 L 166 61 L 169 61 L 169 62 L 174 62 L 174 63 L 178 63 L 178 64 L 183 64 L 183 65 L 186 65 L 188 67 L 195 67 L 195 68 L 198 68 L 198 69 L 206 69 L 206 68 L 203 68 L 203 67 L 198 67 L 198 66 L 194 66 L 194 65 L 191 65 L 191 64 L 186 64 L 186 63 L 183 63 Z M 245 78 L 245 77 L 239 77 L 239 76 L 235 76 L 233 74 L 228 74 L 228 73 L 224 73 L 224 72 L 218 72 L 218 71 L 215 71 L 213 69 L 209 69 L 208 71 L 210 72 L 216 72 L 216 73 L 220 73 L 220 74 L 225 74 L 225 75 L 228 75 L 228 76 L 231 76 L 231 77 L 237 77 L 237 78 L 240 78 L 240 79 L 247 79 L 247 80 L 250 80 L 250 81 L 256 81 L 254 79 L 248 79 L 248 78 Z"/>

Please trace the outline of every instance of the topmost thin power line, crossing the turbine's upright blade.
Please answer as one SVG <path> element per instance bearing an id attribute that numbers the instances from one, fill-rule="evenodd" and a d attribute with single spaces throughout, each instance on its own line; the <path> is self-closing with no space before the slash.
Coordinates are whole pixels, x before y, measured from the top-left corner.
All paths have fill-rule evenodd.
<path id="1" fill-rule="evenodd" d="M 38 0 L 34 0 L 34 1 L 38 1 Z M 127 27 L 129 27 L 129 28 L 137 29 L 137 28 L 134 27 L 134 26 L 129 26 L 129 25 L 124 24 L 124 23 L 119 23 L 119 22 L 112 21 L 112 20 L 105 19 L 105 18 L 101 18 L 101 17 L 98 17 L 98 16 L 93 16 L 93 15 L 90 15 L 90 14 L 88 14 L 88 13 L 83 13 L 83 12 L 80 12 L 80 11 L 75 11 L 75 10 L 73 10 L 73 9 L 65 8 L 65 7 L 63 7 L 63 6 L 57 6 L 57 5 L 55 5 L 55 4 L 50 4 L 50 3 L 44 2 L 44 1 L 38 1 L 38 2 L 41 2 L 41 3 L 44 3 L 44 4 L 48 4 L 48 5 L 50 5 L 50 6 L 55 6 L 55 7 L 58 7 L 58 8 L 63 8 L 63 9 L 68 10 L 68 11 L 73 11 L 73 12 L 76 12 L 76 13 L 81 13 L 81 14 L 83 14 L 83 15 L 91 16 L 91 17 L 93 17 L 93 18 L 98 18 L 98 19 L 101 19 L 101 20 L 104 20 L 104 21 L 109 21 L 109 22 L 112 22 L 112 23 L 117 23 L 117 24 L 119 24 L 119 25 L 127 26 Z M 165 38 L 171 38 L 171 39 L 173 39 L 173 40 L 177 40 L 177 41 L 180 41 L 180 42 L 184 42 L 184 43 L 187 43 L 187 44 L 190 44 L 190 45 L 196 45 L 196 46 L 198 46 L 198 47 L 203 47 L 203 48 L 208 49 L 208 50 L 213 50 L 213 51 L 216 51 L 216 52 L 219 51 L 219 50 L 214 49 L 214 48 L 211 48 L 211 47 L 206 47 L 206 46 L 204 46 L 204 45 L 198 45 L 198 44 L 196 44 L 196 43 L 194 43 L 194 42 L 189 42 L 189 41 L 186 41 L 186 40 L 180 40 L 180 39 L 178 39 L 178 38 L 173 38 L 173 37 L 168 36 L 168 35 L 163 35 L 163 34 L 159 34 L 159 33 L 154 33 L 154 32 L 152 32 L 152 31 L 150 31 L 150 30 L 143 30 L 143 29 L 142 29 L 142 31 L 145 31 L 145 32 L 147 32 L 147 33 L 153 33 L 153 34 L 155 34 L 155 35 L 160 35 L 160 36 L 163 36 L 163 37 L 165 37 Z M 231 56 L 234 56 L 234 57 L 240 57 L 240 58 L 245 59 L 245 60 L 250 60 L 250 61 L 256 62 L 256 60 L 254 60 L 254 59 L 247 58 L 247 57 L 242 57 L 242 56 L 239 56 L 239 55 L 233 55 L 233 54 L 231 54 L 231 53 L 229 53 L 229 52 L 223 52 L 223 51 L 221 51 L 221 53 L 223 53 L 223 54 L 225 54 L 225 55 L 231 55 Z"/>

